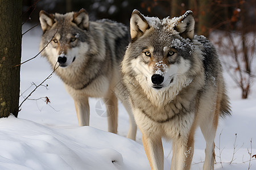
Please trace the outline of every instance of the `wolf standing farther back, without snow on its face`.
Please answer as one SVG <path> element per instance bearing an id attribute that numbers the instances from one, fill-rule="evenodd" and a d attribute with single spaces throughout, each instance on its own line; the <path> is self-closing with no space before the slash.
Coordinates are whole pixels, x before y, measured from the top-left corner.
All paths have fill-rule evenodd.
<path id="1" fill-rule="evenodd" d="M 129 113 L 127 137 L 135 140 L 137 125 L 120 84 L 120 64 L 130 40 L 128 28 L 108 19 L 89 21 L 83 8 L 64 15 L 42 10 L 39 20 L 43 31 L 41 56 L 48 59 L 52 69 L 57 68 L 55 73 L 75 101 L 79 125 L 89 126 L 88 98 L 102 97 L 108 105 L 108 130 L 117 133 L 119 97 Z"/>

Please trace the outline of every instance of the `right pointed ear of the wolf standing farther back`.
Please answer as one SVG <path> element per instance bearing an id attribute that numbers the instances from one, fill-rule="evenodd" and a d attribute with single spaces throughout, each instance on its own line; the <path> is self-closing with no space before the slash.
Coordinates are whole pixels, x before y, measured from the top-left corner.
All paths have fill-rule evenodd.
<path id="1" fill-rule="evenodd" d="M 77 27 L 81 29 L 88 29 L 89 27 L 89 16 L 84 8 L 81 8 L 79 12 L 76 12 L 73 16 L 73 22 L 77 24 Z"/>

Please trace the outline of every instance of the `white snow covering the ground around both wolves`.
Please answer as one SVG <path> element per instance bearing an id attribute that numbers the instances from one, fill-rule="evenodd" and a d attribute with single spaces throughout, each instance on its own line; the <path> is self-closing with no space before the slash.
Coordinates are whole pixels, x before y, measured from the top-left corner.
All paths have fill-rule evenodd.
<path id="1" fill-rule="evenodd" d="M 36 28 L 23 36 L 22 61 L 38 53 L 40 35 L 42 31 Z M 24 63 L 20 103 L 35 88 L 31 83 L 39 84 L 51 72 L 46 58 L 36 57 Z M 248 151 L 256 154 L 256 86 L 254 84 L 249 99 L 241 100 L 240 89 L 234 86 L 228 74 L 224 76 L 231 98 L 232 117 L 221 119 L 217 129 L 215 169 L 248 169 L 249 163 L 250 169 L 256 169 L 256 159 L 251 158 L 249 162 L 248 154 Z M 51 103 L 46 104 L 45 97 Z M 89 100 L 90 126 L 79 127 L 73 100 L 56 74 L 30 99 L 34 100 L 23 103 L 18 118 L 0 118 L 0 169 L 150 169 L 141 132 L 138 130 L 136 142 L 125 138 L 129 118 L 121 103 L 117 135 L 106 132 L 106 117 L 96 112 L 96 103 L 100 99 Z M 234 160 L 229 164 L 234 145 Z M 171 142 L 163 141 L 163 146 L 164 169 L 170 169 Z M 203 135 L 197 129 L 191 169 L 203 169 L 204 149 Z"/>

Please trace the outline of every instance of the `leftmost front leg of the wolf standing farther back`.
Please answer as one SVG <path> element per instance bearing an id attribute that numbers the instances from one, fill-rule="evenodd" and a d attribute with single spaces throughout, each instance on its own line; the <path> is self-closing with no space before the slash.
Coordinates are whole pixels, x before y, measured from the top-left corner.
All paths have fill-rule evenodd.
<path id="1" fill-rule="evenodd" d="M 83 99 L 74 99 L 74 101 L 79 126 L 89 126 L 90 108 L 88 97 Z"/>

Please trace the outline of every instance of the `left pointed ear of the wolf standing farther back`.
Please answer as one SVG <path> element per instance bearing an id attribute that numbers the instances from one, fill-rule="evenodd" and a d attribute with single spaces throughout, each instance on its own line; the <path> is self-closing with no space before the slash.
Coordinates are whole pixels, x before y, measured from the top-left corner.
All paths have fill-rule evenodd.
<path id="1" fill-rule="evenodd" d="M 43 33 L 46 32 L 47 30 L 51 29 L 53 23 L 55 23 L 54 15 L 53 14 L 48 14 L 44 10 L 40 11 L 39 20 L 40 20 L 40 24 L 41 24 Z"/>

